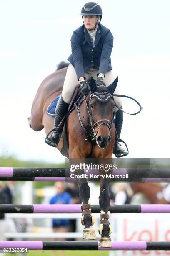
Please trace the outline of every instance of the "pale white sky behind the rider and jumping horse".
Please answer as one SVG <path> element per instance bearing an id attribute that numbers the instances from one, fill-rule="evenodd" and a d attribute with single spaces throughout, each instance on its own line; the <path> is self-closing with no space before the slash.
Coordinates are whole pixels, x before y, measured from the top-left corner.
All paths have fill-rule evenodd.
<path id="1" fill-rule="evenodd" d="M 28 126 L 32 101 L 45 77 L 71 54 L 70 37 L 82 25 L 83 0 L 0 1 L 0 155 L 61 162 Z M 169 157 L 170 1 L 100 0 L 102 25 L 114 36 L 112 68 L 120 93 L 143 111 L 124 114 L 121 138 L 130 158 Z M 123 100 L 125 111 L 137 106 Z"/>

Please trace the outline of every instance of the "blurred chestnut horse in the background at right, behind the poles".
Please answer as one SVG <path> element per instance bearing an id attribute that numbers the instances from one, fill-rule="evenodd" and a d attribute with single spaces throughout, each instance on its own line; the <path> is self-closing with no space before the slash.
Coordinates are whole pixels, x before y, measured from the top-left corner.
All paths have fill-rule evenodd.
<path id="1" fill-rule="evenodd" d="M 142 183 L 133 183 L 132 189 L 135 193 L 143 193 L 145 197 L 148 198 L 151 204 L 155 204 L 158 201 L 158 192 L 161 192 L 163 188 L 156 184 L 142 184 Z"/>

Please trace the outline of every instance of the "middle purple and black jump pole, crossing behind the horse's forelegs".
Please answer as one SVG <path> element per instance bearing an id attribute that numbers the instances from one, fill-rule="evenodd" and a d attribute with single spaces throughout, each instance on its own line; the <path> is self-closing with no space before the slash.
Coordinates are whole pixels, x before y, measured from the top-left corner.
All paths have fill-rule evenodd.
<path id="1" fill-rule="evenodd" d="M 99 205 L 91 205 L 100 213 Z M 111 213 L 170 213 L 170 205 L 111 205 Z M 81 205 L 0 205 L 0 213 L 82 213 Z"/>

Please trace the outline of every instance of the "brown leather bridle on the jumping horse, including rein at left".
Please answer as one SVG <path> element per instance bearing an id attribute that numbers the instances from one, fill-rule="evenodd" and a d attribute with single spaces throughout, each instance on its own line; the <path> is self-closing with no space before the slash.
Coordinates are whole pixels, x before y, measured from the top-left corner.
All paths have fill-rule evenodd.
<path id="1" fill-rule="evenodd" d="M 93 120 L 92 120 L 92 106 L 91 106 L 91 101 L 92 101 L 93 97 L 95 97 L 100 102 L 107 102 L 110 98 L 113 99 L 113 95 L 109 92 L 94 92 L 90 95 L 89 102 L 87 102 L 86 97 L 84 97 L 86 107 L 87 107 L 88 119 L 89 119 L 89 122 L 90 122 L 90 124 L 89 124 L 90 131 L 87 131 L 87 129 L 85 128 L 85 126 L 82 123 L 82 120 L 81 120 L 81 117 L 80 117 L 80 111 L 79 111 L 80 105 L 77 106 L 76 103 L 75 103 L 75 108 L 77 110 L 77 114 L 78 114 L 80 125 L 81 125 L 82 129 L 85 131 L 87 137 L 90 137 L 90 139 L 92 141 L 95 141 L 96 136 L 97 136 L 97 132 L 98 132 L 101 125 L 107 125 L 107 127 L 109 128 L 109 131 L 111 131 L 112 124 L 114 123 L 114 120 L 115 120 L 115 113 L 114 113 L 114 110 L 113 110 L 114 118 L 113 118 L 112 121 L 110 121 L 108 119 L 100 119 L 100 120 L 98 120 L 97 122 L 94 123 Z M 97 127 L 97 131 L 95 131 L 96 127 Z M 86 140 L 87 140 L 87 138 L 86 138 Z"/>

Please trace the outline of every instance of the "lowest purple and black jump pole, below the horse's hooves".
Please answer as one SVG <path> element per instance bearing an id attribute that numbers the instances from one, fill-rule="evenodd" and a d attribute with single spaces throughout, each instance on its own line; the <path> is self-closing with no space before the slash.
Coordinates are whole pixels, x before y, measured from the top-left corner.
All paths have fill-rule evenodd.
<path id="1" fill-rule="evenodd" d="M 111 248 L 99 247 L 98 241 L 0 241 L 0 250 L 23 248 L 28 250 L 170 250 L 170 242 L 112 241 Z"/>

